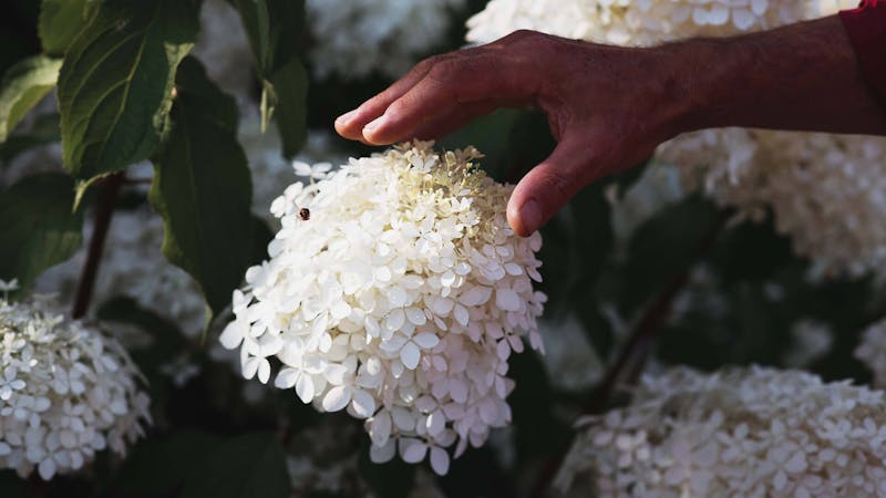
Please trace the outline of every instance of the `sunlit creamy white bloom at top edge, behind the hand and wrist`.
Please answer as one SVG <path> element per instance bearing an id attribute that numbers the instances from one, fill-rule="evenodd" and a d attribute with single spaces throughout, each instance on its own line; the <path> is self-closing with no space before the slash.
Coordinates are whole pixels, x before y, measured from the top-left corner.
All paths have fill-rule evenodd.
<path id="1" fill-rule="evenodd" d="M 467 41 L 528 29 L 597 43 L 647 46 L 758 31 L 817 14 L 814 0 L 492 0 L 467 21 Z"/>

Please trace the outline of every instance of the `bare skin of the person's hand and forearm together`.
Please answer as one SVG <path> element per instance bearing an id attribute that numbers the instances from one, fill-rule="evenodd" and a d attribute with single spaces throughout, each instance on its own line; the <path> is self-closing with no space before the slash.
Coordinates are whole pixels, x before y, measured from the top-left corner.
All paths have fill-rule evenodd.
<path id="1" fill-rule="evenodd" d="M 834 15 L 728 39 L 648 49 L 518 31 L 419 63 L 336 121 L 387 145 L 445 135 L 498 107 L 543 111 L 557 147 L 514 189 L 507 219 L 528 236 L 591 181 L 641 163 L 681 133 L 720 126 L 886 134 Z"/>

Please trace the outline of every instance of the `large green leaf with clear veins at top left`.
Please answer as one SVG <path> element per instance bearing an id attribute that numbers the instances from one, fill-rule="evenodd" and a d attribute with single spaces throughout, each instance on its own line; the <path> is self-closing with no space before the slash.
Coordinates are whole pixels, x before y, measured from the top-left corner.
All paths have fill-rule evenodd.
<path id="1" fill-rule="evenodd" d="M 59 75 L 62 157 L 84 184 L 155 153 L 176 66 L 199 25 L 195 0 L 107 0 L 95 9 Z"/>

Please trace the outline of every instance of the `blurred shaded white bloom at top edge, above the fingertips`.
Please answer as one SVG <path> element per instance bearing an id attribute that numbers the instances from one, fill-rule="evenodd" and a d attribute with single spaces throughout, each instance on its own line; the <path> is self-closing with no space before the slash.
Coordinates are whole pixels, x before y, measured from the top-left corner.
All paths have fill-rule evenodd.
<path id="1" fill-rule="evenodd" d="M 452 11 L 463 4 L 464 0 L 307 0 L 313 72 L 321 79 L 373 72 L 400 77 L 444 41 Z"/>

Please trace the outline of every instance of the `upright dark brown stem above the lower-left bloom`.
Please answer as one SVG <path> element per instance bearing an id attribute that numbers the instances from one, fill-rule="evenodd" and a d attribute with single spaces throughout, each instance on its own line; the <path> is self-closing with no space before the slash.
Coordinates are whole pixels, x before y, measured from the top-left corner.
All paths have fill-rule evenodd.
<path id="1" fill-rule="evenodd" d="M 95 226 L 93 227 L 89 252 L 86 252 L 86 262 L 83 264 L 83 272 L 80 274 L 80 283 L 74 298 L 72 317 L 75 319 L 82 318 L 89 310 L 92 290 L 95 287 L 95 278 L 99 274 L 99 263 L 102 260 L 104 240 L 111 226 L 111 217 L 114 215 L 117 194 L 125 180 L 123 173 L 115 173 L 102 179 L 97 185 L 100 191 L 99 204 L 95 206 Z"/>

